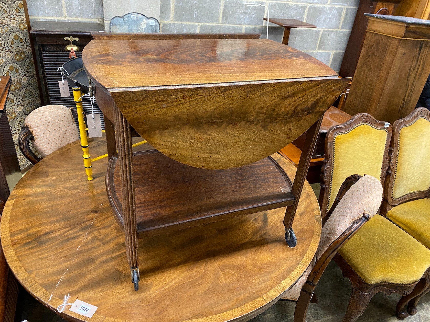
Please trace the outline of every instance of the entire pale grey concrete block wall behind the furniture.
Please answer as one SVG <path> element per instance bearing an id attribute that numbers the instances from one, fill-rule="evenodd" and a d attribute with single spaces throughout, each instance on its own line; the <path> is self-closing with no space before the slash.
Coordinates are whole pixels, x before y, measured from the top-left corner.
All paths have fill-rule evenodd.
<path id="1" fill-rule="evenodd" d="M 340 69 L 359 0 L 27 0 L 31 20 L 93 21 L 104 24 L 115 15 L 141 12 L 160 20 L 161 32 L 266 34 L 266 9 L 270 17 L 292 18 L 316 28 L 291 30 L 289 46 Z M 269 25 L 269 38 L 282 41 L 283 27 Z"/>

